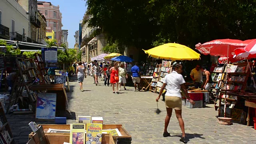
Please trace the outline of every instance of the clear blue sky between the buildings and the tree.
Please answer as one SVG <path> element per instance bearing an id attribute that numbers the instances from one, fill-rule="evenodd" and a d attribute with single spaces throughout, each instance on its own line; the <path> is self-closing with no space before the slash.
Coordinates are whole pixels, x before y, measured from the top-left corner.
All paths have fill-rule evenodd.
<path id="1" fill-rule="evenodd" d="M 75 32 L 79 30 L 79 22 L 86 11 L 84 0 L 41 0 L 51 2 L 54 6 L 60 6 L 62 13 L 62 30 L 68 30 L 68 48 L 74 48 Z"/>

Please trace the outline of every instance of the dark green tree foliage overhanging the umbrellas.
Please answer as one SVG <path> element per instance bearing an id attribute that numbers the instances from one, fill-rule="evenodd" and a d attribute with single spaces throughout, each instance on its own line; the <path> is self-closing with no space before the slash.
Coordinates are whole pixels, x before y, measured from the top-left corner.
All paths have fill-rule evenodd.
<path id="1" fill-rule="evenodd" d="M 255 0 L 87 0 L 86 21 L 110 44 L 150 48 L 177 42 L 194 48 L 215 39 L 252 39 Z"/>

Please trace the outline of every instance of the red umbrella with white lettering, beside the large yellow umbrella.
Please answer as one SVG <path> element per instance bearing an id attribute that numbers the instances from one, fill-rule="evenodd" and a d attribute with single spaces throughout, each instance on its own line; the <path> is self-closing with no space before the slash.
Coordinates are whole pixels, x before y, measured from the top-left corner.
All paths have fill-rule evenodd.
<path id="1" fill-rule="evenodd" d="M 230 56 L 231 58 L 235 55 L 234 50 L 236 48 L 244 48 L 252 41 L 253 40 L 242 41 L 232 39 L 212 40 L 204 44 L 196 44 L 196 49 L 204 55 L 210 54 L 211 56 Z"/>

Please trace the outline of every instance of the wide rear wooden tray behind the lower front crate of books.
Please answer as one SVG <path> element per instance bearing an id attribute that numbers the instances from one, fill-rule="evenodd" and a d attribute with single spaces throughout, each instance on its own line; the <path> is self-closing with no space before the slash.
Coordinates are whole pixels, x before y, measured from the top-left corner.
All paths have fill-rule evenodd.
<path id="1" fill-rule="evenodd" d="M 38 126 L 42 126 L 43 129 L 57 129 L 57 130 L 70 130 L 69 124 L 38 124 Z M 122 136 L 113 136 L 115 144 L 131 144 L 132 143 L 132 136 L 122 127 L 122 124 L 103 124 L 102 129 L 108 130 L 108 129 L 115 129 L 117 128 Z M 67 133 L 45 133 L 46 135 L 57 135 L 57 136 L 68 136 Z M 33 132 L 29 134 L 29 138 L 32 138 L 34 135 Z M 62 143 L 63 144 L 63 143 Z"/>

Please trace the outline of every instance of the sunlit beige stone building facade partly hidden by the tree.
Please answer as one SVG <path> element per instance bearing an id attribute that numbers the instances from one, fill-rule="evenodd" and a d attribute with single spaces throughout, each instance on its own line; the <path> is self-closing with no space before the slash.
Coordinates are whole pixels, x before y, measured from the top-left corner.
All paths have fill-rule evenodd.
<path id="1" fill-rule="evenodd" d="M 96 37 L 92 37 L 92 33 L 96 28 L 88 27 L 88 23 L 84 23 L 89 16 L 87 14 L 84 15 L 82 22 L 82 42 L 80 45 L 80 51 L 82 51 L 82 61 L 90 62 L 91 58 L 98 56 L 104 52 L 102 48 L 107 45 L 107 40 L 105 39 L 104 34 L 100 34 Z"/>

